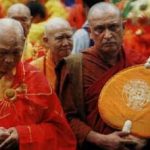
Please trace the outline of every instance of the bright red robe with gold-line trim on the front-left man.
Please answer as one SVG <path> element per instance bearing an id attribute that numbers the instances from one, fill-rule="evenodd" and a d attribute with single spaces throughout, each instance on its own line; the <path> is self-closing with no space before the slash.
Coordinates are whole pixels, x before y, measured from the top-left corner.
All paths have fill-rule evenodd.
<path id="1" fill-rule="evenodd" d="M 18 90 L 24 85 L 24 90 Z M 17 66 L 14 100 L 0 101 L 0 126 L 15 127 L 19 150 L 75 150 L 75 138 L 44 75 L 28 64 Z"/>

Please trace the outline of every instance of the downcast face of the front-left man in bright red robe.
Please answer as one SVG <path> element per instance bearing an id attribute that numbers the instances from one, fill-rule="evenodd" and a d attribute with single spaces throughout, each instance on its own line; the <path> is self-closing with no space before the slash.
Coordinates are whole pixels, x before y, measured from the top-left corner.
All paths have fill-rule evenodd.
<path id="1" fill-rule="evenodd" d="M 3 36 L 3 37 L 1 37 Z M 22 40 L 12 31 L 0 34 L 0 74 L 9 73 L 19 62 L 24 46 Z"/>

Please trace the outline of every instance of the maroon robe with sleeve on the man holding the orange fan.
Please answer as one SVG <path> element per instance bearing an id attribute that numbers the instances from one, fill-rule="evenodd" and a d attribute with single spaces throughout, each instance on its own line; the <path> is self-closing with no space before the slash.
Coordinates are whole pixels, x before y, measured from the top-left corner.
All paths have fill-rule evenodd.
<path id="1" fill-rule="evenodd" d="M 83 52 L 82 82 L 86 121 L 80 119 L 81 117 L 79 116 L 78 108 L 73 101 L 73 94 L 71 94 L 72 92 L 75 92 L 71 81 L 72 76 L 67 66 L 63 66 L 59 87 L 60 91 L 62 91 L 62 95 L 59 93 L 59 90 L 58 94 L 63 102 L 64 110 L 70 120 L 70 125 L 76 134 L 78 143 L 82 146 L 82 150 L 100 150 L 100 148 L 85 142 L 85 138 L 89 131 L 94 130 L 103 134 L 109 134 L 114 131 L 114 129 L 103 122 L 99 115 L 97 104 L 98 97 L 106 81 L 128 65 L 128 61 L 123 51 L 118 55 L 118 63 L 113 67 L 102 60 L 94 48 L 89 48 Z M 63 83 L 65 85 L 62 85 Z M 71 91 L 71 89 L 73 89 L 73 91 Z"/>

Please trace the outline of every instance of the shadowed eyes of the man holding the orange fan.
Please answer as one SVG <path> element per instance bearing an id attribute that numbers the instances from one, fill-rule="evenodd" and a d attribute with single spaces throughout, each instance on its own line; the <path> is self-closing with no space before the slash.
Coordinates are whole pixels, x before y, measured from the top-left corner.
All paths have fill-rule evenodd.
<path id="1" fill-rule="evenodd" d="M 113 23 L 109 25 L 97 25 L 92 27 L 95 34 L 99 35 L 103 33 L 106 29 L 111 32 L 119 32 L 121 30 L 121 24 Z"/>

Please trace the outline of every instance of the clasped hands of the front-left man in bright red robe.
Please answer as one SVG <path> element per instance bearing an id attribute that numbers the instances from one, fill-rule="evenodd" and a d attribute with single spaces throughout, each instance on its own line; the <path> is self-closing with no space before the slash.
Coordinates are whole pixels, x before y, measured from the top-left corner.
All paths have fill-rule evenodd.
<path id="1" fill-rule="evenodd" d="M 18 146 L 18 132 L 16 128 L 7 129 L 9 136 L 0 144 L 0 150 L 9 150 Z"/>

